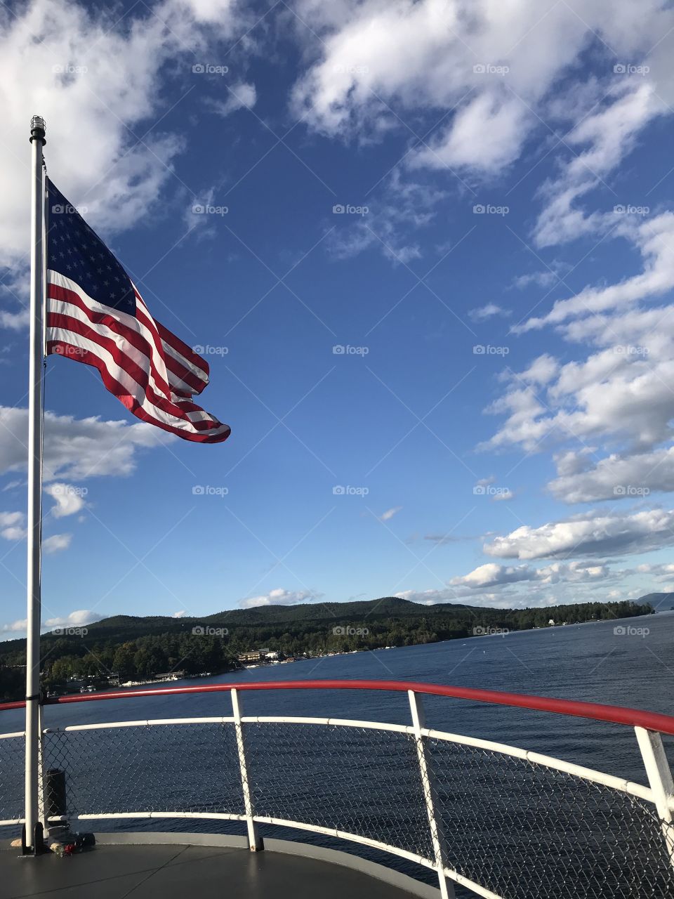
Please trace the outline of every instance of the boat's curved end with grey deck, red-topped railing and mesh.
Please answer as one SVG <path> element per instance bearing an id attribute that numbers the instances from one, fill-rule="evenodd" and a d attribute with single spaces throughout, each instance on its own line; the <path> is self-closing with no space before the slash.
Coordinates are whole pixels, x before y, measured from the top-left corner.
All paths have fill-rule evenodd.
<path id="1" fill-rule="evenodd" d="M 279 690 L 300 699 L 306 690 L 368 690 L 377 708 L 402 692 L 409 719 L 247 716 L 251 690 L 265 691 L 270 708 Z M 223 693 L 225 715 L 118 719 L 122 700 L 147 699 L 149 716 L 158 695 L 177 703 L 213 694 L 221 713 Z M 643 778 L 501 743 L 496 732 L 485 739 L 426 725 L 424 702 L 455 700 L 536 711 L 543 734 L 550 715 L 584 719 L 589 741 L 631 728 Z M 91 701 L 102 723 L 69 724 L 67 709 L 51 708 Z M 2 711 L 23 705 L 0 706 L 0 724 Z M 94 830 L 96 846 L 66 860 L 40 854 L 36 840 L 35 857 L 21 857 L 31 853 L 24 734 L 0 734 L 7 896 L 104 889 L 172 899 L 197 886 L 215 897 L 223 884 L 229 895 L 256 897 L 674 896 L 665 751 L 674 717 L 427 683 L 306 680 L 57 697 L 45 700 L 41 725 L 38 830 L 46 845 L 64 828 Z M 279 839 L 283 832 L 291 839 Z"/>

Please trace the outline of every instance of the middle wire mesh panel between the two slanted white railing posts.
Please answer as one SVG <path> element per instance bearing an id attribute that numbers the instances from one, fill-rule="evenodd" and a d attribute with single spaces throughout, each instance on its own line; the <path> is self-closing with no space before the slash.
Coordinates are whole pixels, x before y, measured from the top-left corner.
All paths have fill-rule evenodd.
<path id="1" fill-rule="evenodd" d="M 255 814 L 433 858 L 410 734 L 264 723 L 245 724 L 244 738 Z"/>

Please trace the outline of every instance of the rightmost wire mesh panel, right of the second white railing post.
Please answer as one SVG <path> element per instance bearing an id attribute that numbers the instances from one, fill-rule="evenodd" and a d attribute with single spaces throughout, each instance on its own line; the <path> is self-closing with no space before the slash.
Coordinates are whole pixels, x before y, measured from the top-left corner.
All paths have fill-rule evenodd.
<path id="1" fill-rule="evenodd" d="M 502 896 L 674 896 L 655 807 L 614 788 L 459 743 L 425 741 L 448 865 Z"/>

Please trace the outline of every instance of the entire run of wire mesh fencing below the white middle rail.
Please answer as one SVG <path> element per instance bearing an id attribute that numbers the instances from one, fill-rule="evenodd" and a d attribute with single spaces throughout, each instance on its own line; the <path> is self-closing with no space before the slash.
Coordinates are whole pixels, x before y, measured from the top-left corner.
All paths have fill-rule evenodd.
<path id="1" fill-rule="evenodd" d="M 243 817 L 243 761 L 258 822 L 350 834 L 432 867 L 431 814 L 447 870 L 504 899 L 674 897 L 656 808 L 623 790 L 432 734 L 421 738 L 424 779 L 412 728 L 242 728 L 244 760 L 231 719 L 48 730 L 42 768 L 47 779 L 65 774 L 71 818 Z M 22 816 L 22 749 L 21 737 L 0 740 L 5 818 Z"/>

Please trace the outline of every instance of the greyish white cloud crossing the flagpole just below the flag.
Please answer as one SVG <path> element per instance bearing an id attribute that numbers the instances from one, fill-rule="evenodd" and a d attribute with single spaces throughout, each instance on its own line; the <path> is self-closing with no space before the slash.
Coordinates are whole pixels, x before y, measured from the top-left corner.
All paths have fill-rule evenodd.
<path id="1" fill-rule="evenodd" d="M 44 476 L 82 480 L 93 476 L 130 475 L 142 449 L 172 438 L 151 424 L 102 421 L 98 416 L 45 415 Z M 0 473 L 26 467 L 28 410 L 0 406 Z"/>

